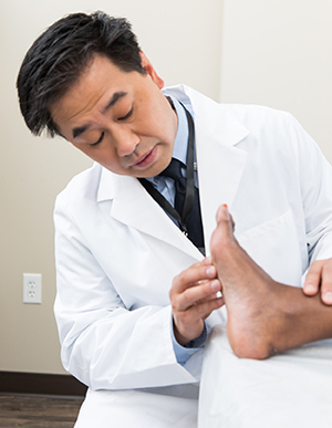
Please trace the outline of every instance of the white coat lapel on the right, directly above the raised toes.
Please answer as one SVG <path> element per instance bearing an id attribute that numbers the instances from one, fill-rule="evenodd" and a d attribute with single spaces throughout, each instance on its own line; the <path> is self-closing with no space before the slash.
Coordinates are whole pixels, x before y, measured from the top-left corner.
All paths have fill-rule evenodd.
<path id="1" fill-rule="evenodd" d="M 208 255 L 208 243 L 216 228 L 217 209 L 221 203 L 227 203 L 231 211 L 245 170 L 247 153 L 236 145 L 249 132 L 225 105 L 217 104 L 190 88 L 185 90 L 190 96 L 195 112 L 199 197 Z"/>

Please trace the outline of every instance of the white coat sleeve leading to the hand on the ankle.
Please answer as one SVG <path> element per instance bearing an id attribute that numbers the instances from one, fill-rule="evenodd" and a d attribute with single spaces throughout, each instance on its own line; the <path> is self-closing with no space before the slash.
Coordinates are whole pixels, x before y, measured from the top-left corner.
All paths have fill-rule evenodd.
<path id="1" fill-rule="evenodd" d="M 291 116 L 290 134 L 298 156 L 309 263 L 332 258 L 332 167 L 315 142 Z M 305 273 L 302 278 L 302 282 Z"/>

